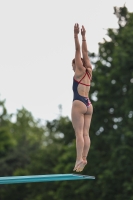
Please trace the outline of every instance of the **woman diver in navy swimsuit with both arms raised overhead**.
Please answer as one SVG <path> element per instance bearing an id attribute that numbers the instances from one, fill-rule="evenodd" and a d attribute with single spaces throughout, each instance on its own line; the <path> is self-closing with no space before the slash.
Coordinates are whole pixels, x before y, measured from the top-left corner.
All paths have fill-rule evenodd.
<path id="1" fill-rule="evenodd" d="M 76 163 L 74 171 L 81 172 L 87 164 L 87 155 L 90 148 L 89 129 L 93 113 L 93 106 L 88 98 L 92 78 L 92 66 L 88 57 L 86 31 L 81 28 L 82 57 L 78 39 L 79 24 L 74 25 L 75 59 L 72 60 L 73 103 L 71 110 L 72 125 L 76 135 Z"/>

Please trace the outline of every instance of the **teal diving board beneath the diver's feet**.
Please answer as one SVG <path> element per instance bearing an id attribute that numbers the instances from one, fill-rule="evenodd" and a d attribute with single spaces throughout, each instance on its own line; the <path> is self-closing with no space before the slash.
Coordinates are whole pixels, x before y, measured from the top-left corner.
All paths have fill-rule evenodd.
<path id="1" fill-rule="evenodd" d="M 0 184 L 31 183 L 31 182 L 35 183 L 35 182 L 68 181 L 68 180 L 88 180 L 88 179 L 95 179 L 95 177 L 81 175 L 81 174 L 7 176 L 7 177 L 0 177 Z"/>

